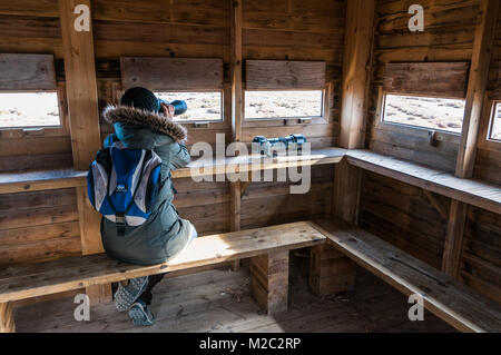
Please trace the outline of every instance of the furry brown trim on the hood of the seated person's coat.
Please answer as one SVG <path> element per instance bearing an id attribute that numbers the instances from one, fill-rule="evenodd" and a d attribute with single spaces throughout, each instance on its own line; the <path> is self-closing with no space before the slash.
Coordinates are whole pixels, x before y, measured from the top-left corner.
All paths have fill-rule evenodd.
<path id="1" fill-rule="evenodd" d="M 102 117 L 110 124 L 124 122 L 151 128 L 173 137 L 177 142 L 183 142 L 188 137 L 185 127 L 167 119 L 165 116 L 129 106 L 110 105 L 102 112 Z"/>

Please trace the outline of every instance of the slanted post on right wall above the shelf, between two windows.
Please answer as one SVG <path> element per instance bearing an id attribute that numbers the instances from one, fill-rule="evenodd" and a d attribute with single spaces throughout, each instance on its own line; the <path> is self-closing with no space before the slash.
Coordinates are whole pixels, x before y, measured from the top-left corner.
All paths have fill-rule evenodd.
<path id="1" fill-rule="evenodd" d="M 480 19 L 475 29 L 470 78 L 468 79 L 463 131 L 455 167 L 455 175 L 460 178 L 473 176 L 477 140 L 489 79 L 498 10 L 499 0 L 480 0 Z"/>

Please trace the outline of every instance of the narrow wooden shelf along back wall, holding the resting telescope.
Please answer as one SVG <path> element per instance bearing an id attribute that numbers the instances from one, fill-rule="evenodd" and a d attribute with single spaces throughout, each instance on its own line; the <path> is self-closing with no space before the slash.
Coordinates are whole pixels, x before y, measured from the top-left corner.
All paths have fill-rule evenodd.
<path id="1" fill-rule="evenodd" d="M 307 156 L 277 157 L 274 159 L 265 159 L 265 157 L 259 155 L 223 159 L 198 159 L 186 168 L 174 170 L 173 178 L 200 177 L 213 174 L 226 174 L 227 171 L 245 172 L 336 164 L 343 159 L 345 154 L 345 149 L 324 148 L 314 149 Z M 2 172 L 0 174 L 0 195 L 86 186 L 86 175 L 87 171 L 73 169 Z"/>

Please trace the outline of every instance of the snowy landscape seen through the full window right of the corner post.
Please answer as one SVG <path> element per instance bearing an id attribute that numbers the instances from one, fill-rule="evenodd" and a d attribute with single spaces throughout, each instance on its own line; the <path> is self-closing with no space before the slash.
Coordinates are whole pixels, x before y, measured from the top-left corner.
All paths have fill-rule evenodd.
<path id="1" fill-rule="evenodd" d="M 464 100 L 386 95 L 383 121 L 461 134 Z"/>

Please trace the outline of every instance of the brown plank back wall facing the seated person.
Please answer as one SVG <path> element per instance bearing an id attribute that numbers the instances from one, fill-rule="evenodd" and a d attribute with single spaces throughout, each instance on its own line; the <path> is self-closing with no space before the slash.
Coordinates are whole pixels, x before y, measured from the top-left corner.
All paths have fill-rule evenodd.
<path id="1" fill-rule="evenodd" d="M 230 141 L 229 0 L 95 0 L 91 2 L 99 107 L 116 102 L 120 56 L 222 58 L 225 69 L 225 122 L 188 127 L 188 145 Z M 323 124 L 269 127 L 252 125 L 256 135 L 305 134 L 314 147 L 336 144 L 345 0 L 243 1 L 245 59 L 322 60 L 327 65 L 330 119 Z M 65 83 L 58 0 L 0 0 L 0 52 L 52 53 L 57 80 Z M 245 69 L 245 66 L 244 66 Z M 101 136 L 111 127 L 101 120 Z M 71 167 L 68 131 L 42 136 L 0 132 L 0 170 Z M 253 183 L 242 201 L 242 227 L 307 219 L 331 208 L 333 168 L 313 168 L 312 191 L 291 196 L 288 184 Z M 229 230 L 229 184 L 174 181 L 175 205 L 202 235 Z M 22 213 L 19 213 L 21 210 Z M 75 190 L 0 196 L 0 265 L 36 262 L 80 253 Z"/>

